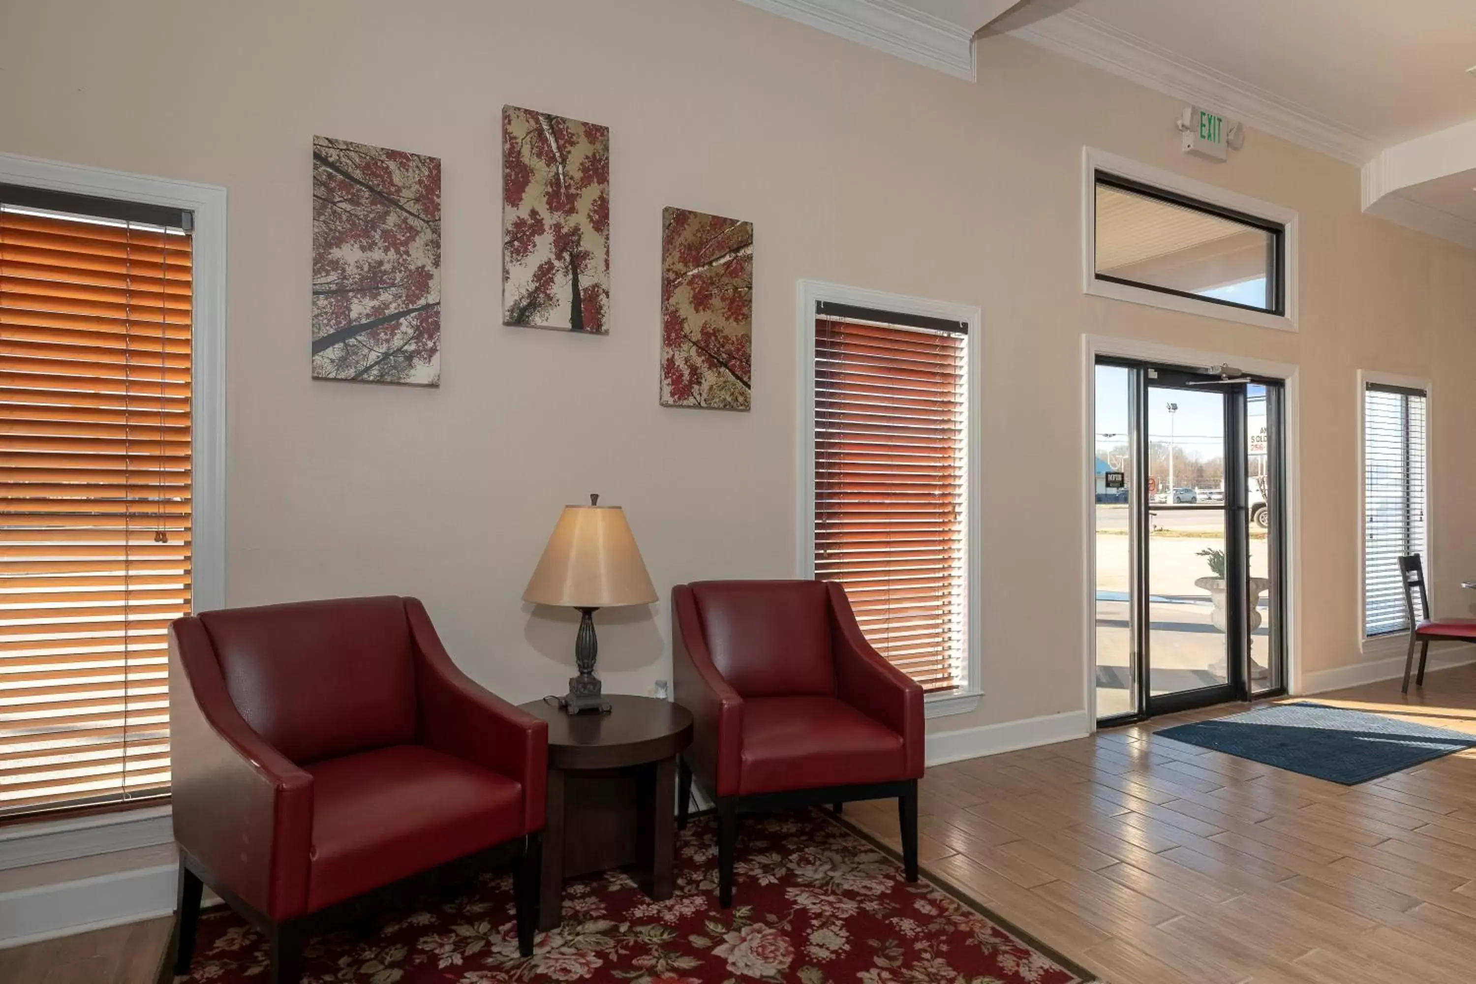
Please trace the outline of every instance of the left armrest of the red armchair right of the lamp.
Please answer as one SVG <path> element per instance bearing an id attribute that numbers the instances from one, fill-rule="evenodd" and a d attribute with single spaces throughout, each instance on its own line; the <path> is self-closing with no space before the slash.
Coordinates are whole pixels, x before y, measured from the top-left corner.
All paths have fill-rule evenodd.
<path id="1" fill-rule="evenodd" d="M 686 764 L 714 795 L 738 792 L 742 698 L 713 665 L 692 589 L 672 589 L 672 682 L 676 702 L 692 713 Z"/>

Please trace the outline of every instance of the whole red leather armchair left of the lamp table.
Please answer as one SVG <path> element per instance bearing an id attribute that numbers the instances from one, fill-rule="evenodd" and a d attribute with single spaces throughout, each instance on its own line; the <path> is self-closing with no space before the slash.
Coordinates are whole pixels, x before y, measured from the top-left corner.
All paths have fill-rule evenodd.
<path id="1" fill-rule="evenodd" d="M 531 953 L 548 724 L 471 682 L 413 597 L 236 608 L 170 626 L 176 972 L 202 884 L 272 981 L 365 893 L 512 842 Z"/>

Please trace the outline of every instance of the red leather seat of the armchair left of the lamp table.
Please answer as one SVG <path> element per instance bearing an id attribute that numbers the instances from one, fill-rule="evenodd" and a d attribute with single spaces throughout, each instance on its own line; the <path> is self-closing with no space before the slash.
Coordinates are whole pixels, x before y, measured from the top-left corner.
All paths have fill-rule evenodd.
<path id="1" fill-rule="evenodd" d="M 422 745 L 329 758 L 307 772 L 308 912 L 523 832 L 520 783 Z"/>

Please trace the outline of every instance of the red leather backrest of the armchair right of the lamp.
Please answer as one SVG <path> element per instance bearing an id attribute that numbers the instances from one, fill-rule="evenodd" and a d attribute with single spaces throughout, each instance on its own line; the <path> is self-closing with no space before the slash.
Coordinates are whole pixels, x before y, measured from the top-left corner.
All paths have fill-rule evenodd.
<path id="1" fill-rule="evenodd" d="M 691 586 L 717 673 L 739 696 L 835 693 L 824 581 Z"/>

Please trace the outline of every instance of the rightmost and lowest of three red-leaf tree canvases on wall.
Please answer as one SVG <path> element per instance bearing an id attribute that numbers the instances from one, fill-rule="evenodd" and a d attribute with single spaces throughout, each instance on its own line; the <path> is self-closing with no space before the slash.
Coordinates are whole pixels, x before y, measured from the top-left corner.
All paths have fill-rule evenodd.
<path id="1" fill-rule="evenodd" d="M 753 223 L 661 212 L 661 406 L 747 410 Z"/>

